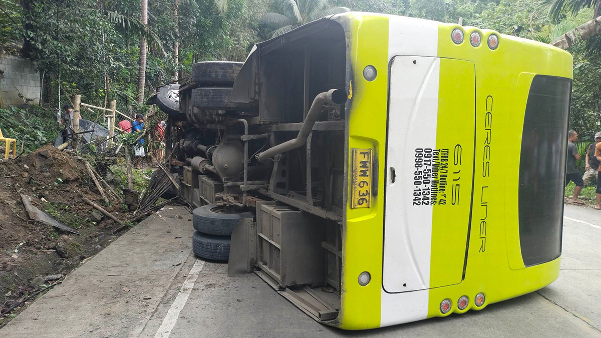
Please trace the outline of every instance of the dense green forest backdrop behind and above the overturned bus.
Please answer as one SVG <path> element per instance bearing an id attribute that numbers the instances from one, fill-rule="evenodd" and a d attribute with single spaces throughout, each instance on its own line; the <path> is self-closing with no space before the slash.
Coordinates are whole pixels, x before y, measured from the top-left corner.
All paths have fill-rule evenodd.
<path id="1" fill-rule="evenodd" d="M 144 0 L 142 0 L 143 2 Z M 294 4 L 292 3 L 294 2 Z M 148 24 L 140 0 L 0 0 L 0 48 L 36 61 L 43 105 L 82 94 L 120 111 L 136 103 L 140 38 L 148 41 L 144 96 L 185 78 L 201 60 L 243 61 L 252 44 L 320 14 L 374 11 L 458 22 L 551 41 L 593 18 L 601 1 L 580 0 L 152 0 Z M 558 5 L 559 4 L 559 5 Z M 591 5 L 593 8 L 587 8 Z M 554 9 L 549 13 L 549 9 Z M 266 13 L 269 13 L 266 15 Z M 279 29 L 278 29 L 279 28 Z M 283 28 L 283 29 L 282 29 Z M 590 140 L 601 129 L 601 36 L 580 41 L 574 55 L 570 126 Z"/>

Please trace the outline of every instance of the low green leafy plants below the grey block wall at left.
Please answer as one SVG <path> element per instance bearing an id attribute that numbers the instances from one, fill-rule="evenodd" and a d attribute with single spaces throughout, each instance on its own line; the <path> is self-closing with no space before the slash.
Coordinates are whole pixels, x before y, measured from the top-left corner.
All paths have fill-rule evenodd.
<path id="1" fill-rule="evenodd" d="M 46 143 L 54 143 L 59 134 L 55 114 L 38 106 L 0 108 L 0 129 L 4 137 L 14 138 L 25 149 L 35 150 Z"/>

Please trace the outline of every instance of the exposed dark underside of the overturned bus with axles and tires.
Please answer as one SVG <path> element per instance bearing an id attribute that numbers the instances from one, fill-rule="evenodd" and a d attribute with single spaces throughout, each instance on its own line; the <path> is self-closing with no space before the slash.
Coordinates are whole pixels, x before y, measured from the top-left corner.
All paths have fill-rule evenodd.
<path id="1" fill-rule="evenodd" d="M 231 275 L 254 271 L 314 319 L 332 321 L 346 175 L 343 29 L 325 21 L 266 41 L 241 67 L 195 64 L 180 109 L 166 111 L 171 172 L 197 208 L 195 253 L 229 256 Z M 207 224 L 219 218 L 238 226 L 213 232 Z"/>

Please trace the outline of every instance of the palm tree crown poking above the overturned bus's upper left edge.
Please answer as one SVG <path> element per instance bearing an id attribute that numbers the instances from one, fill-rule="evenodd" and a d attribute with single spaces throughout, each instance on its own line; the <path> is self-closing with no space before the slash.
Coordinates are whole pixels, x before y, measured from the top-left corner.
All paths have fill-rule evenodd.
<path id="1" fill-rule="evenodd" d="M 273 28 L 272 37 L 321 17 L 350 11 L 347 7 L 335 7 L 328 0 L 276 0 L 279 13 L 265 13 L 261 24 Z"/>

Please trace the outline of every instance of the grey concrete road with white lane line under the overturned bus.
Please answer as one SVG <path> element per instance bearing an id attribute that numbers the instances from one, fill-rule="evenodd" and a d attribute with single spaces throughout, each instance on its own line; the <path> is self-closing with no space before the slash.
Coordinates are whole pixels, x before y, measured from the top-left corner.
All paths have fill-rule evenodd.
<path id="1" fill-rule="evenodd" d="M 601 337 L 601 212 L 566 205 L 557 281 L 479 312 L 379 330 L 317 324 L 255 275 L 191 255 L 170 207 L 29 306 L 0 337 Z M 175 250 L 174 250 L 175 249 Z"/>

